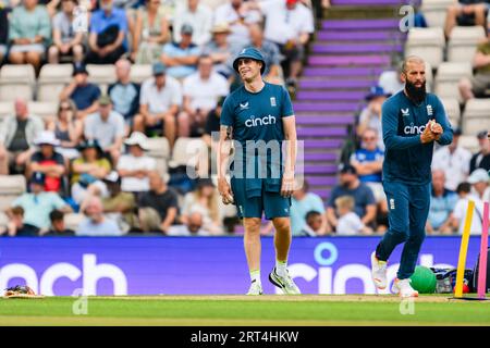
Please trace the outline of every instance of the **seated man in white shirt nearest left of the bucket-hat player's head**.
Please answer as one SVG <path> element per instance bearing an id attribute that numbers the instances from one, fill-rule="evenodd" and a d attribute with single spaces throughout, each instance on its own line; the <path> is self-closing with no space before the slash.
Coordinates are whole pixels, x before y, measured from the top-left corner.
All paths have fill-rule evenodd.
<path id="1" fill-rule="evenodd" d="M 198 72 L 184 79 L 183 111 L 179 115 L 179 135 L 200 137 L 206 116 L 216 108 L 220 97 L 230 92 L 226 79 L 212 71 L 209 55 L 199 57 Z"/>

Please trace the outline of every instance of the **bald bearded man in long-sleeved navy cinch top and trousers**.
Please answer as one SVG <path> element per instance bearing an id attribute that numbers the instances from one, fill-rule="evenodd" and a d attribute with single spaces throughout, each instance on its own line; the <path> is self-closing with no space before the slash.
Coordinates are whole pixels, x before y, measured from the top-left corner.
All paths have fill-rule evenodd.
<path id="1" fill-rule="evenodd" d="M 424 60 L 408 57 L 402 65 L 405 88 L 382 105 L 384 150 L 383 188 L 390 228 L 371 254 L 372 278 L 387 287 L 387 261 L 405 243 L 396 278 L 391 288 L 401 297 L 416 297 L 409 277 L 415 271 L 425 238 L 430 206 L 433 141 L 449 145 L 453 130 L 439 98 L 426 92 Z"/>

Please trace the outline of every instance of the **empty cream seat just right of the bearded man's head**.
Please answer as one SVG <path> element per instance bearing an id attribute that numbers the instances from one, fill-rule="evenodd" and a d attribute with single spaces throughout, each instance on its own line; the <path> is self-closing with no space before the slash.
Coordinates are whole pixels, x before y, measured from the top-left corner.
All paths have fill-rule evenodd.
<path id="1" fill-rule="evenodd" d="M 443 62 L 439 65 L 436 76 L 436 94 L 440 98 L 456 98 L 460 102 L 463 98 L 460 95 L 457 83 L 462 77 L 473 75 L 469 62 Z"/>

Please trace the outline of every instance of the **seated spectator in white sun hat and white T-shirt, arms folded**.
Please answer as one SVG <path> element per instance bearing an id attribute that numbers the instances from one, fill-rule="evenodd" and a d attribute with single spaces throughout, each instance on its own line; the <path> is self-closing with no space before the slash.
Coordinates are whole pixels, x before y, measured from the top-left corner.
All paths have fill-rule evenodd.
<path id="1" fill-rule="evenodd" d="M 145 154 L 148 150 L 147 141 L 146 135 L 140 132 L 133 132 L 124 141 L 128 153 L 123 154 L 118 163 L 123 191 L 139 194 L 149 190 L 149 173 L 156 170 L 157 163 Z"/>

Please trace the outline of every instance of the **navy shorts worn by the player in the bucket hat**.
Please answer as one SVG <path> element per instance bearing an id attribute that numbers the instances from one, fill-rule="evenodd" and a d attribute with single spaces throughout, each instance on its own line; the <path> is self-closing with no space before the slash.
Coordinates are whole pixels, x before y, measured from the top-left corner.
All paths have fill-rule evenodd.
<path id="1" fill-rule="evenodd" d="M 289 217 L 291 209 L 291 197 L 282 197 L 280 192 L 269 192 L 265 189 L 262 181 L 262 194 L 259 197 L 247 198 L 245 190 L 245 179 L 231 179 L 231 188 L 238 217 L 259 217 L 266 213 L 267 220 L 274 217 Z"/>

